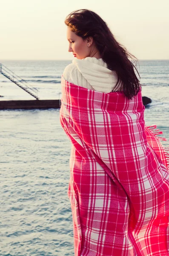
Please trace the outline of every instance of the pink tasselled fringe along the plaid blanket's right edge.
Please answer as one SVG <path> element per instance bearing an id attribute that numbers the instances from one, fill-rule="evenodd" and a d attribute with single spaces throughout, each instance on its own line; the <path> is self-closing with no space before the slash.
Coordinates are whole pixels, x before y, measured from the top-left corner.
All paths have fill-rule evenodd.
<path id="1" fill-rule="evenodd" d="M 157 125 L 150 125 L 150 126 L 146 126 L 149 131 L 152 132 L 152 134 L 155 135 L 155 137 L 158 139 L 158 141 L 161 143 L 161 140 L 162 141 L 167 141 L 166 138 L 163 138 L 163 137 L 159 137 L 157 135 L 159 134 L 163 134 L 163 131 L 160 131 L 160 129 L 156 129 L 157 128 Z M 156 130 L 155 130 L 156 129 Z M 167 163 L 167 170 L 169 171 L 169 147 L 164 147 L 163 144 L 161 143 L 162 147 L 163 147 L 163 151 L 164 151 L 164 155 L 165 155 L 165 158 L 166 158 L 166 163 Z"/>

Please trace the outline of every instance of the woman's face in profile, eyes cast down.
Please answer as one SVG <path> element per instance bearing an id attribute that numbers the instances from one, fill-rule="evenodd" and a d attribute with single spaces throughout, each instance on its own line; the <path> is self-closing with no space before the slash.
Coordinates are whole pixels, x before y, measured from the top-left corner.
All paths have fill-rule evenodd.
<path id="1" fill-rule="evenodd" d="M 74 57 L 83 59 L 89 56 L 90 50 L 87 46 L 87 39 L 83 41 L 83 38 L 72 32 L 69 27 L 67 27 L 67 40 L 69 42 L 68 51 L 72 52 Z"/>

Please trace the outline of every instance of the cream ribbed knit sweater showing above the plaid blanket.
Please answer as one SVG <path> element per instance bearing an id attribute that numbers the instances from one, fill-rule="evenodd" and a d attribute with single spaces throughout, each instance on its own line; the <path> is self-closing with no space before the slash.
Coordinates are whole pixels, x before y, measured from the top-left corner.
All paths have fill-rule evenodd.
<path id="1" fill-rule="evenodd" d="M 64 72 L 63 77 L 72 84 L 109 93 L 117 83 L 117 74 L 109 70 L 102 58 L 86 57 L 74 59 Z"/>

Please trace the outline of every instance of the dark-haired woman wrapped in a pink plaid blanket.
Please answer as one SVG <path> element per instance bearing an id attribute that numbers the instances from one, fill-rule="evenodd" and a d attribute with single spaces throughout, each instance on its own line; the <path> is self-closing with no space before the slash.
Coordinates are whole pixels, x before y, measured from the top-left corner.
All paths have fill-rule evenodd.
<path id="1" fill-rule="evenodd" d="M 75 256 L 168 256 L 168 154 L 144 124 L 134 56 L 95 12 L 65 23 L 75 58 L 62 76 L 60 122 L 72 142 Z"/>

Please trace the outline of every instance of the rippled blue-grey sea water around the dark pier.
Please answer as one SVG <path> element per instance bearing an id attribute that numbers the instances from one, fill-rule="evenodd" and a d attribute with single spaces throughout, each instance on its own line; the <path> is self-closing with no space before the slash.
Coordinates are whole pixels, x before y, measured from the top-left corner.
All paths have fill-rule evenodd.
<path id="1" fill-rule="evenodd" d="M 0 61 L 39 90 L 60 97 L 60 79 L 71 61 Z M 169 140 L 169 61 L 139 61 L 147 125 Z M 0 100 L 32 99 L 0 75 Z M 59 109 L 0 111 L 0 256 L 73 256 L 67 189 L 71 143 Z"/>

